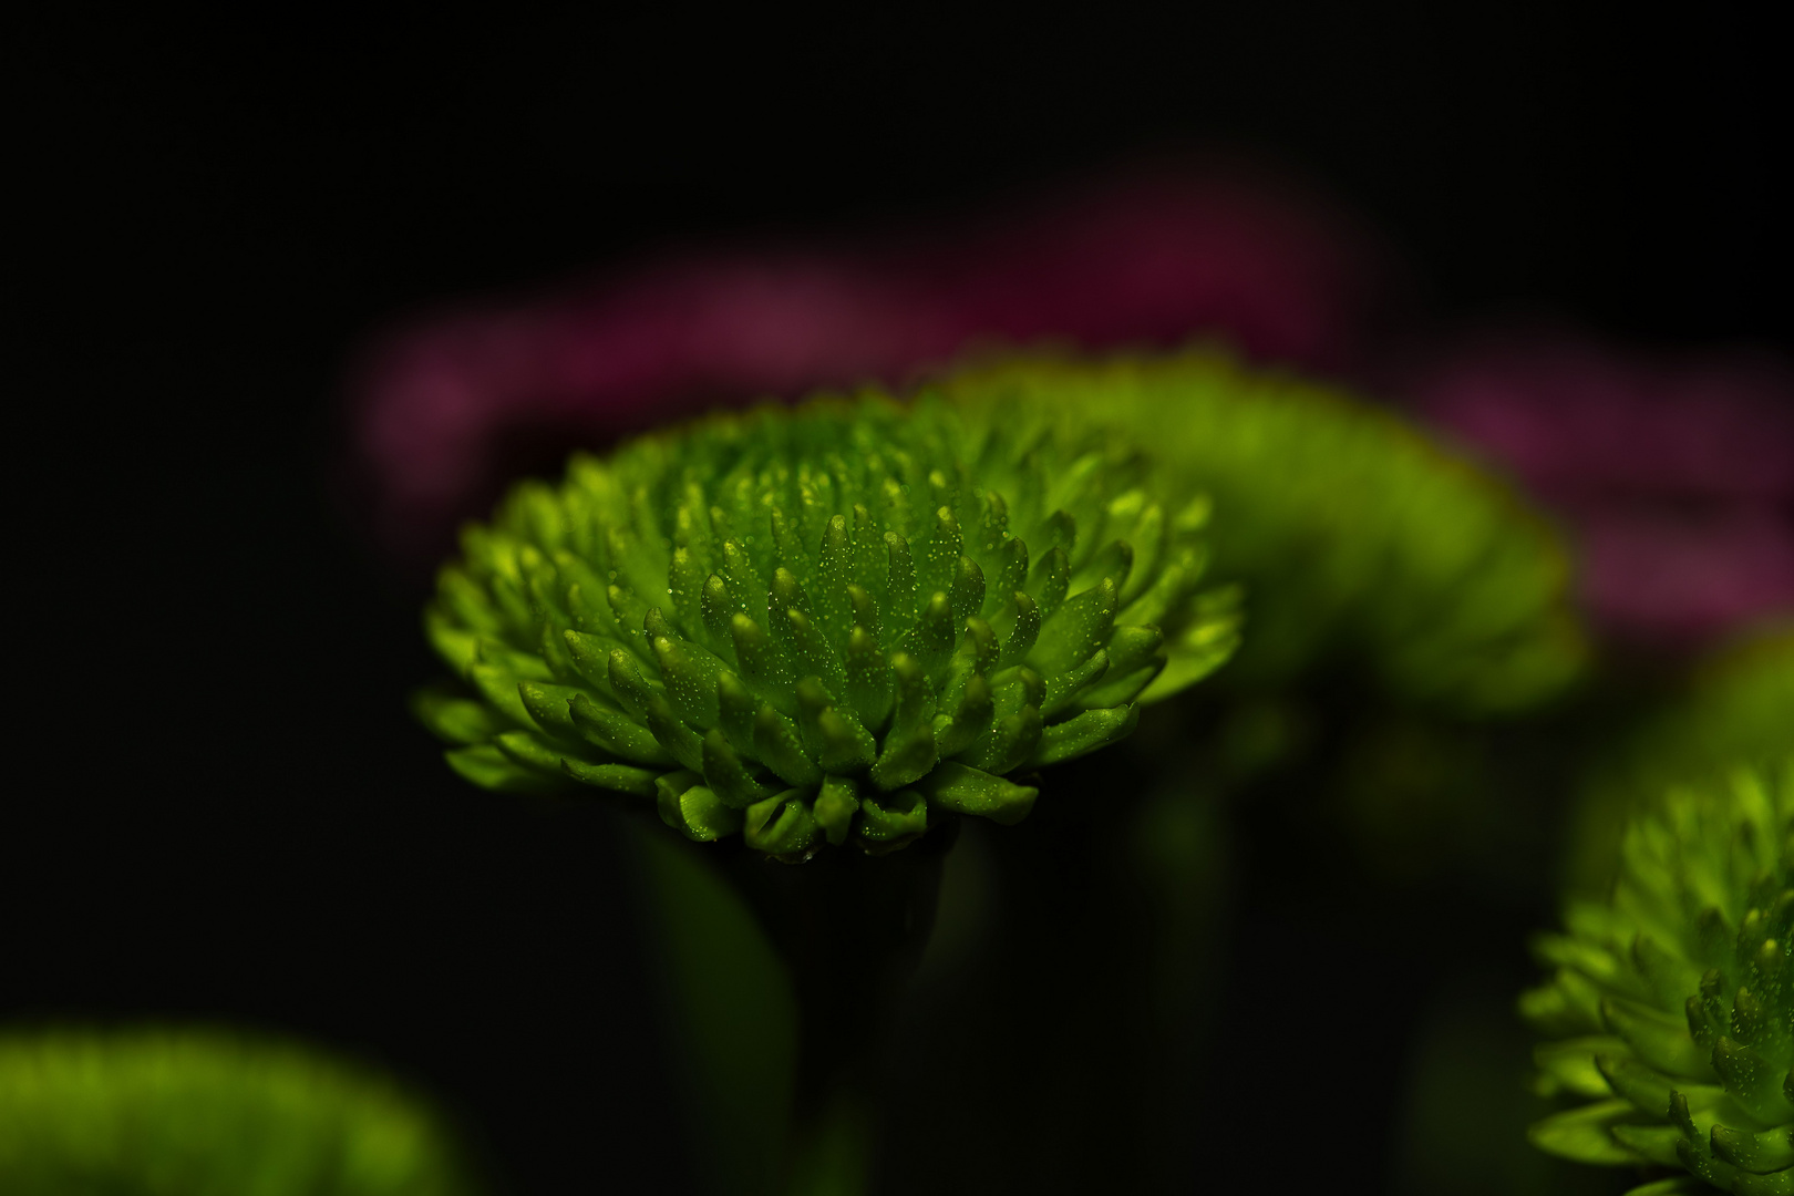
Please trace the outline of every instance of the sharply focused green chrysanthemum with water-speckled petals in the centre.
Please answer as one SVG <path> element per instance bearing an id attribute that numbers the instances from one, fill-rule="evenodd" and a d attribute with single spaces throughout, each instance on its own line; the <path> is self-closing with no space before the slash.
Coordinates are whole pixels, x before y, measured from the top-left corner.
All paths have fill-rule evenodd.
<path id="1" fill-rule="evenodd" d="M 479 699 L 418 710 L 492 789 L 657 798 L 798 859 L 929 810 L 1012 823 L 1008 775 L 1132 730 L 1232 647 L 1206 504 L 1109 434 L 886 400 L 716 416 L 576 457 L 465 534 L 427 629 Z"/>

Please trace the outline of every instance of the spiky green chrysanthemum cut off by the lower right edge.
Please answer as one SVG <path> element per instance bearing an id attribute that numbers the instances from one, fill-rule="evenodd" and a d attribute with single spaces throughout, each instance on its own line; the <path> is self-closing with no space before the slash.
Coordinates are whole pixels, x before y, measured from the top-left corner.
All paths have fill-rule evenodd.
<path id="1" fill-rule="evenodd" d="M 1566 925 L 1539 940 L 1557 974 L 1521 1011 L 1564 1036 L 1537 1051 L 1543 1090 L 1593 1103 L 1534 1144 L 1794 1192 L 1794 758 L 1670 791 L 1627 827 L 1613 900 L 1572 902 Z"/>

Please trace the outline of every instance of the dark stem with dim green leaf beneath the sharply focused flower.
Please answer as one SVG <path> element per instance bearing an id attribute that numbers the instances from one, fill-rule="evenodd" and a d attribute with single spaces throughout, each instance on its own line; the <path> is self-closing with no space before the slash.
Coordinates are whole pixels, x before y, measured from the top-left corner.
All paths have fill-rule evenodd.
<path id="1" fill-rule="evenodd" d="M 703 1178 L 719 1192 L 861 1196 L 897 1002 L 935 923 L 958 821 L 890 855 L 782 864 L 631 827 Z"/>

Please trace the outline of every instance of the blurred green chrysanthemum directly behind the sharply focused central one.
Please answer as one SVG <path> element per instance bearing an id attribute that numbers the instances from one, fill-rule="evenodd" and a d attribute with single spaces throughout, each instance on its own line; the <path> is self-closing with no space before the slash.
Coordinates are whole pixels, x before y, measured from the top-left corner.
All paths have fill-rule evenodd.
<path id="1" fill-rule="evenodd" d="M 1390 412 L 1213 351 L 1003 359 L 940 389 L 1125 429 L 1209 493 L 1215 576 L 1247 590 L 1236 685 L 1351 656 L 1394 698 L 1484 714 L 1537 703 L 1582 665 L 1552 531 Z"/>

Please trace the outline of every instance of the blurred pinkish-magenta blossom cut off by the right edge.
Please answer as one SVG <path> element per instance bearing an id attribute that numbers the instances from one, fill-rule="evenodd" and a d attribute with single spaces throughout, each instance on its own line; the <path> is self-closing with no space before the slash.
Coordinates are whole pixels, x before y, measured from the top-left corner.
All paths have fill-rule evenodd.
<path id="1" fill-rule="evenodd" d="M 1794 611 L 1787 364 L 1487 341 L 1412 393 L 1561 515 L 1582 601 L 1611 633 L 1692 646 Z"/>

